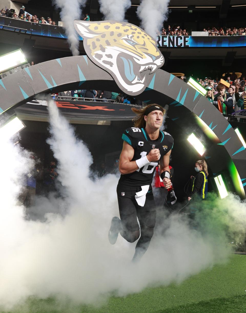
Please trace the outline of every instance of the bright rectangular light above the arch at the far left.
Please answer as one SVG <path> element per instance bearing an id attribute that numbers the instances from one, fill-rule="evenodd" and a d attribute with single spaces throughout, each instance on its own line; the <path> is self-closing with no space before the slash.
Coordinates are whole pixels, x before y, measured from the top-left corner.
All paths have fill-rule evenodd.
<path id="1" fill-rule="evenodd" d="M 24 63 L 27 63 L 27 59 L 21 49 L 3 54 L 0 56 L 0 73 L 5 72 L 8 69 L 13 69 Z"/>

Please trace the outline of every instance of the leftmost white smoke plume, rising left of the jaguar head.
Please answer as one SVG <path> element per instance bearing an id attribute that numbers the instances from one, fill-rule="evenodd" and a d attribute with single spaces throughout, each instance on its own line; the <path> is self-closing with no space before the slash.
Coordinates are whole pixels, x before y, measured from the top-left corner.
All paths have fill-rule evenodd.
<path id="1" fill-rule="evenodd" d="M 74 28 L 74 20 L 80 19 L 81 8 L 85 7 L 86 0 L 53 0 L 61 10 L 60 17 L 68 37 L 70 50 L 74 55 L 79 55 L 79 37 Z"/>

